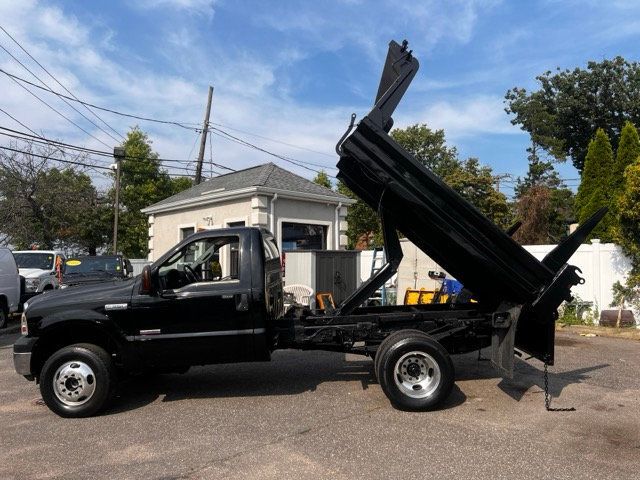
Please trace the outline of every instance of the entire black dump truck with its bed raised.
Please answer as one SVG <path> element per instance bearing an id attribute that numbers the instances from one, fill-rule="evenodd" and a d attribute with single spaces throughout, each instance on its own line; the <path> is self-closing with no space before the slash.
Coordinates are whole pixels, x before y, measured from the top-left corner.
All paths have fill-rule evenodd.
<path id="1" fill-rule="evenodd" d="M 454 354 L 490 346 L 505 376 L 514 349 L 553 364 L 557 308 L 583 282 L 566 262 L 605 211 L 538 261 L 388 135 L 417 70 L 407 43 L 392 41 L 375 106 L 355 129 L 352 116 L 336 147 L 340 180 L 379 213 L 388 260 L 335 309 L 284 311 L 271 233 L 209 230 L 135 278 L 29 302 L 16 371 L 39 382 L 55 413 L 84 417 L 108 405 L 121 376 L 267 361 L 278 349 L 370 356 L 383 391 L 405 410 L 447 398 Z M 398 232 L 460 280 L 464 294 L 449 304 L 363 307 L 398 268 Z"/>

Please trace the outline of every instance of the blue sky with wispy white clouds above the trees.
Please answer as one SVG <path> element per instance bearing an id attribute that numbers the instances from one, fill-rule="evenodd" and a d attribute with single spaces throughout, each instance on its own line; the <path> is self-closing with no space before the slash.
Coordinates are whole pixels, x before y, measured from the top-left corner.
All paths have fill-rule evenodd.
<path id="1" fill-rule="evenodd" d="M 233 169 L 273 161 L 307 178 L 320 168 L 335 175 L 334 148 L 350 114 L 366 115 L 389 41 L 407 39 L 420 70 L 395 126 L 444 129 L 461 158 L 479 158 L 515 179 L 526 173 L 529 138 L 504 111 L 506 91 L 535 90 L 535 77 L 557 67 L 616 55 L 637 61 L 640 2 L 0 0 L 0 25 L 79 99 L 192 128 L 96 111 L 110 130 L 77 107 L 111 138 L 59 98 L 29 87 L 71 124 L 2 73 L 0 108 L 48 138 L 104 151 L 137 124 L 161 157 L 191 161 L 165 164 L 182 174 L 194 171 L 195 129 L 211 85 L 214 127 L 307 168 L 220 131 L 206 160 Z M 62 92 L 2 31 L 0 46 Z M 1 49 L 0 68 L 37 83 Z M 2 112 L 0 126 L 25 130 Z M 570 162 L 557 168 L 577 186 Z M 222 170 L 205 165 L 205 175 L 215 172 Z M 110 182 L 91 174 L 99 185 Z M 504 180 L 501 191 L 511 195 L 513 181 Z"/>

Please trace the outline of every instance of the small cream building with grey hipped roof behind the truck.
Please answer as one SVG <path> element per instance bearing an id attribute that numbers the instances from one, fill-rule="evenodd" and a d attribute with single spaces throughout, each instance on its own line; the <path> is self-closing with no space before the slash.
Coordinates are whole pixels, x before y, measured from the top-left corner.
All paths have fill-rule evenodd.
<path id="1" fill-rule="evenodd" d="M 194 232 L 234 226 L 267 228 L 281 252 L 344 249 L 353 203 L 273 163 L 221 175 L 142 210 L 149 260 Z"/>

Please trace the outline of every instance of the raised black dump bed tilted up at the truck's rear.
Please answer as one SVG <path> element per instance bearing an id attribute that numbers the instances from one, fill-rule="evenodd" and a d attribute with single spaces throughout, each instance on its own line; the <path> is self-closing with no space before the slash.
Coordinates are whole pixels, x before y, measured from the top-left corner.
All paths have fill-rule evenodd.
<path id="1" fill-rule="evenodd" d="M 397 229 L 460 280 L 481 310 L 509 312 L 494 319 L 498 366 L 511 369 L 514 346 L 551 364 L 557 307 L 571 298 L 571 286 L 583 282 L 566 261 L 606 210 L 544 260 L 533 257 L 388 135 L 391 115 L 418 66 L 406 41 L 392 41 L 373 109 L 353 131 L 352 117 L 337 147 L 338 178 L 378 211 L 390 251 L 388 268 L 339 311 L 353 311 L 367 290 L 378 288 L 397 269 L 402 255 L 394 238 Z"/>

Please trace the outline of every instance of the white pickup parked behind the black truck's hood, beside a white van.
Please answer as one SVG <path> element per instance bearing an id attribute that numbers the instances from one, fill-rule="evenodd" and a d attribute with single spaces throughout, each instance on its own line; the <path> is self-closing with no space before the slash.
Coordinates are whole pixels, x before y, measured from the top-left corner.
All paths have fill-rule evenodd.
<path id="1" fill-rule="evenodd" d="M 54 290 L 60 286 L 57 265 L 64 268 L 66 256 L 57 250 L 19 250 L 13 252 L 20 275 L 25 280 L 25 291 L 21 302 L 38 293 Z"/>

